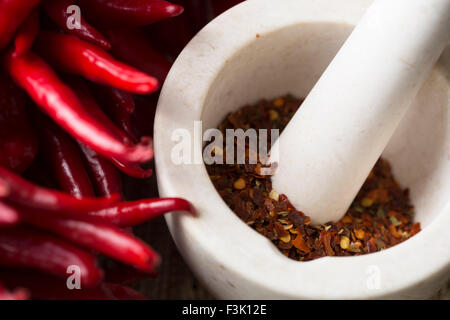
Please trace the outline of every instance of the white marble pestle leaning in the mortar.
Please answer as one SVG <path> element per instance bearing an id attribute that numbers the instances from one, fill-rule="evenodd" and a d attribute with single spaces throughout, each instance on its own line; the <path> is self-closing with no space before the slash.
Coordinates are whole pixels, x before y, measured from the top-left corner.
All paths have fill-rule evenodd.
<path id="1" fill-rule="evenodd" d="M 273 145 L 273 188 L 342 218 L 449 37 L 450 0 L 375 0 Z"/>

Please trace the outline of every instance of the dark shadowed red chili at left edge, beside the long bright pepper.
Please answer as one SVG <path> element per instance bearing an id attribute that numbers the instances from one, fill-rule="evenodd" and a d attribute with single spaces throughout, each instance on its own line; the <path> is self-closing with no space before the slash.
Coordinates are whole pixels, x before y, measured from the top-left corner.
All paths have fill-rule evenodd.
<path id="1" fill-rule="evenodd" d="M 0 74 L 0 165 L 19 173 L 31 165 L 38 149 L 25 107 L 23 92 Z"/>

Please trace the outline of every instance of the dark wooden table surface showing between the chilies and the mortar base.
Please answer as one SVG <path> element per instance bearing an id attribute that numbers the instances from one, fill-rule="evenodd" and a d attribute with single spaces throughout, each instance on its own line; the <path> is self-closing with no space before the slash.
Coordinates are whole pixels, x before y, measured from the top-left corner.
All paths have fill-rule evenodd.
<path id="1" fill-rule="evenodd" d="M 132 181 L 127 185 L 129 198 L 157 196 L 155 179 Z M 132 187 L 131 187 L 132 185 Z M 132 195 L 132 196 L 130 196 Z M 183 261 L 173 242 L 164 218 L 154 219 L 135 228 L 137 236 L 155 248 L 162 257 L 159 276 L 155 279 L 141 280 L 134 288 L 149 299 L 214 299 L 195 279 L 189 267 Z M 432 299 L 450 300 L 450 281 Z"/>

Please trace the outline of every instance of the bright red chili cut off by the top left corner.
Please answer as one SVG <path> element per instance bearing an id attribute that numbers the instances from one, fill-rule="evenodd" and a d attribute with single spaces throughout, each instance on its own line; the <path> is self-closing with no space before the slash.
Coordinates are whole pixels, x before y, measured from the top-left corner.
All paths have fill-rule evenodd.
<path id="1" fill-rule="evenodd" d="M 11 41 L 16 29 L 38 3 L 39 0 L 0 1 L 0 50 Z"/>

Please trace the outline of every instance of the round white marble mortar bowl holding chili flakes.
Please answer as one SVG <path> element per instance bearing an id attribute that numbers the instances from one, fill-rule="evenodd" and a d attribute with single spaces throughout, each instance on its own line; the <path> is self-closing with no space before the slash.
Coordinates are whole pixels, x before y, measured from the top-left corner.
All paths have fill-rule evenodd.
<path id="1" fill-rule="evenodd" d="M 450 49 L 444 52 L 383 153 L 409 187 L 423 231 L 387 250 L 297 262 L 244 224 L 204 164 L 175 164 L 172 134 L 203 131 L 245 104 L 306 96 L 370 5 L 369 0 L 248 0 L 208 24 L 183 50 L 155 120 L 161 196 L 191 201 L 197 216 L 167 216 L 194 274 L 217 298 L 427 298 L 450 274 Z M 349 66 L 351 67 L 351 66 Z M 326 115 L 324 115 L 325 117 Z M 201 158 L 201 149 L 193 150 Z"/>

